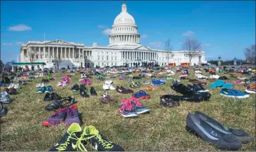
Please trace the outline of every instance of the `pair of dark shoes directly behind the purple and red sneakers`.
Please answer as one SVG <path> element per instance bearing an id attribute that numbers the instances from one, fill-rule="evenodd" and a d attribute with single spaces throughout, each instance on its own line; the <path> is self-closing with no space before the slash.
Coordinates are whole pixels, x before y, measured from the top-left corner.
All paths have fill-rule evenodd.
<path id="1" fill-rule="evenodd" d="M 56 110 L 59 108 L 66 108 L 69 107 L 71 105 L 74 105 L 76 103 L 76 101 L 74 100 L 73 97 L 65 97 L 63 99 L 60 100 L 56 100 L 52 103 L 49 103 L 48 105 L 46 105 L 46 107 L 44 107 L 45 110 Z"/>

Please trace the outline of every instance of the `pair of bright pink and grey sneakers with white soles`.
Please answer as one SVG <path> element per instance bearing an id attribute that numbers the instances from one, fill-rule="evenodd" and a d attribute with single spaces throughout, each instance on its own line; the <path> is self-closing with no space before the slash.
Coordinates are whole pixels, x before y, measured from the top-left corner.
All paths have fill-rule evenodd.
<path id="1" fill-rule="evenodd" d="M 148 107 L 145 107 L 142 103 L 134 97 L 130 99 L 123 99 L 120 104 L 120 112 L 123 117 L 136 117 L 138 114 L 150 112 Z"/>

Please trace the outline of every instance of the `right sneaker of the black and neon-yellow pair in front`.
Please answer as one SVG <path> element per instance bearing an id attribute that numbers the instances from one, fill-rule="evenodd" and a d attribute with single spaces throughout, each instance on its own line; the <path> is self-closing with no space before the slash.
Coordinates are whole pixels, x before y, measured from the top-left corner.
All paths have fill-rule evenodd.
<path id="1" fill-rule="evenodd" d="M 123 147 L 110 142 L 93 125 L 84 128 L 81 138 L 86 141 L 89 140 L 96 151 L 124 151 Z"/>

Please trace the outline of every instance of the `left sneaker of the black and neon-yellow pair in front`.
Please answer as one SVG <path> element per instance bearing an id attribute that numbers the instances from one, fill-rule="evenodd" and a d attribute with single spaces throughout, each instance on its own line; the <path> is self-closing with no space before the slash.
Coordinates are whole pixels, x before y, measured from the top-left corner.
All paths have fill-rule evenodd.
<path id="1" fill-rule="evenodd" d="M 87 151 L 81 138 L 82 129 L 78 123 L 72 123 L 67 133 L 49 151 Z"/>

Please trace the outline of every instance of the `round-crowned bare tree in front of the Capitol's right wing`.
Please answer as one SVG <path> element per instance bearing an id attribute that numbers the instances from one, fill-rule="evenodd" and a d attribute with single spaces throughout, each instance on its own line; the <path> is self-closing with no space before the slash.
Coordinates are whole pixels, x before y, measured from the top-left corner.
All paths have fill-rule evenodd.
<path id="1" fill-rule="evenodd" d="M 187 55 L 189 56 L 189 66 L 191 65 L 191 60 L 195 54 L 197 54 L 201 49 L 201 43 L 196 39 L 188 38 L 182 44 L 182 49 L 187 51 Z"/>

